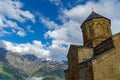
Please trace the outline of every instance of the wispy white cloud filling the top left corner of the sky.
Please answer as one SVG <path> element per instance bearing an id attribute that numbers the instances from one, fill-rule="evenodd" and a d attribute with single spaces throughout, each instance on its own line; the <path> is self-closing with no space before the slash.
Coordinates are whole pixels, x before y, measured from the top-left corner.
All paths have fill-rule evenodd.
<path id="1" fill-rule="evenodd" d="M 22 3 L 13 0 L 0 0 L 0 15 L 24 22 L 26 19 L 35 21 L 34 16 L 29 11 L 21 10 Z"/>

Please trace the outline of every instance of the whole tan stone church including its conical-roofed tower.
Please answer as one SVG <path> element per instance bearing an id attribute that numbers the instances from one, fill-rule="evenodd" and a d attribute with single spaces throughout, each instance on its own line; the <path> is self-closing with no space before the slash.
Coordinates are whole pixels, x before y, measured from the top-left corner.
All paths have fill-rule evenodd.
<path id="1" fill-rule="evenodd" d="M 70 45 L 65 80 L 120 80 L 120 33 L 92 11 L 81 25 L 83 45 Z"/>

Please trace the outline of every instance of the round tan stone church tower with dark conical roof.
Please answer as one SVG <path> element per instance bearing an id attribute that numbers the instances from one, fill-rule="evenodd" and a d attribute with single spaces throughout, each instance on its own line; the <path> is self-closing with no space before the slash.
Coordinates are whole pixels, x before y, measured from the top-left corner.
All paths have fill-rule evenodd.
<path id="1" fill-rule="evenodd" d="M 96 12 L 92 13 L 81 25 L 84 46 L 95 47 L 112 35 L 111 21 Z"/>

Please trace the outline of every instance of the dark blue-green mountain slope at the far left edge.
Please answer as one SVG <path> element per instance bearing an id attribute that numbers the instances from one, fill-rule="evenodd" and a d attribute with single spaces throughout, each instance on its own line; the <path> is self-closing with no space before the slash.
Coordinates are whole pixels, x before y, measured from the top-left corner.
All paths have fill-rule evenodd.
<path id="1" fill-rule="evenodd" d="M 6 49 L 0 48 L 0 80 L 24 80 L 23 76 L 27 75 L 6 59 L 8 52 Z"/>

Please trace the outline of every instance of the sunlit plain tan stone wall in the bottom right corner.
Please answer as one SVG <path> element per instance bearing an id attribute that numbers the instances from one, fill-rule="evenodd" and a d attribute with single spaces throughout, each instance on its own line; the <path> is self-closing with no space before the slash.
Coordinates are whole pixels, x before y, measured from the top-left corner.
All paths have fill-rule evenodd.
<path id="1" fill-rule="evenodd" d="M 115 48 L 92 61 L 94 80 L 120 80 L 120 35 L 112 37 Z"/>

